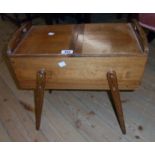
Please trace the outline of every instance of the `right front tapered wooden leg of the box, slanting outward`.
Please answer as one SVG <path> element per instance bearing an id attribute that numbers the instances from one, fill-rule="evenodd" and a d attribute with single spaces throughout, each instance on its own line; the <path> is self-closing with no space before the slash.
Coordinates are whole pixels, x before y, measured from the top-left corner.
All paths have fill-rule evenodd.
<path id="1" fill-rule="evenodd" d="M 107 79 L 109 83 L 110 92 L 112 95 L 114 108 L 116 111 L 117 119 L 120 124 L 121 130 L 123 134 L 126 134 L 123 110 L 122 110 L 122 103 L 120 99 L 120 93 L 118 89 L 118 82 L 117 82 L 117 75 L 115 71 L 107 73 Z"/>

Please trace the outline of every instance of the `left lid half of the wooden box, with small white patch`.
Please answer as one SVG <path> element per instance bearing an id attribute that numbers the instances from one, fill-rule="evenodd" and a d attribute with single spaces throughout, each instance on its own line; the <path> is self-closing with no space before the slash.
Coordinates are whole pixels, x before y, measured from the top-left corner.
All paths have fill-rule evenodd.
<path id="1" fill-rule="evenodd" d="M 68 49 L 71 43 L 74 25 L 32 26 L 27 36 L 16 48 L 16 54 L 58 54 Z M 53 33 L 53 35 L 48 35 Z"/>

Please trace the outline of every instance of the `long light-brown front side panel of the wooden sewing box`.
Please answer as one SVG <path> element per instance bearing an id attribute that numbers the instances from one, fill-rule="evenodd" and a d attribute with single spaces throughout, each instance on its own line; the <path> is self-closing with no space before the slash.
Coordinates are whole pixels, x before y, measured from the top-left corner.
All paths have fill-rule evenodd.
<path id="1" fill-rule="evenodd" d="M 109 89 L 107 72 L 116 71 L 120 90 L 137 88 L 147 57 L 12 57 L 19 87 L 34 89 L 36 73 L 46 71 L 46 89 Z"/>

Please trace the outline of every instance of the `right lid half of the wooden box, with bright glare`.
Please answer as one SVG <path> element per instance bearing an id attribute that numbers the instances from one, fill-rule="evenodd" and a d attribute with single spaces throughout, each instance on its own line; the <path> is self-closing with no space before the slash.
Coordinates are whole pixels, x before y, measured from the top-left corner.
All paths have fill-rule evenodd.
<path id="1" fill-rule="evenodd" d="M 82 54 L 118 56 L 140 53 L 130 24 L 85 25 Z"/>

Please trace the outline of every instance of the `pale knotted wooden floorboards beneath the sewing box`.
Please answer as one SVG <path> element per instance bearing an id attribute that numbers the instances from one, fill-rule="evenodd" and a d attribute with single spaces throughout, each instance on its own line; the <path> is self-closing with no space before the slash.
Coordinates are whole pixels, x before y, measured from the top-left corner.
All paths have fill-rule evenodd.
<path id="1" fill-rule="evenodd" d="M 70 126 L 74 127 L 75 125 L 76 117 L 74 116 L 78 116 L 78 119 L 82 118 L 81 128 L 75 128 L 75 131 L 78 132 L 81 137 L 85 139 L 85 141 L 154 141 L 154 50 L 152 50 L 152 52 L 149 54 L 149 57 L 150 61 L 146 66 L 142 85 L 134 92 L 121 92 L 121 99 L 123 103 L 127 128 L 127 134 L 125 136 L 120 132 L 120 128 L 113 113 L 111 103 L 107 97 L 107 93 L 102 91 L 53 91 L 52 94 L 48 94 L 47 92 L 45 95 L 44 105 L 45 113 L 43 112 L 42 115 L 42 127 L 40 131 L 35 131 L 34 114 L 32 112 L 27 112 L 18 103 L 18 100 L 23 100 L 27 104 L 33 106 L 33 93 L 31 91 L 19 90 L 15 87 L 15 83 L 13 82 L 8 68 L 3 61 L 3 63 L 0 64 L 0 76 L 1 79 L 3 79 L 2 83 L 5 83 L 5 86 L 2 87 L 1 85 L 3 91 L 0 93 L 0 96 L 7 95 L 7 99 L 10 100 L 8 104 L 5 104 L 6 107 L 10 109 L 7 111 L 7 113 L 9 115 L 10 113 L 15 113 L 18 115 L 18 117 L 20 116 L 21 120 L 27 118 L 26 122 L 18 120 L 15 123 L 13 120 L 16 120 L 16 118 L 13 117 L 11 121 L 13 121 L 15 124 L 12 129 L 9 128 L 8 125 L 4 125 L 7 122 L 7 119 L 5 119 L 6 116 L 1 117 L 1 120 L 3 120 L 4 123 L 4 130 L 7 133 L 10 133 L 10 141 L 19 141 L 18 135 L 13 134 L 15 133 L 13 130 L 18 130 L 18 122 L 20 124 L 25 124 L 24 127 L 29 133 L 27 136 L 30 137 L 29 140 L 31 141 L 34 139 L 38 139 L 38 141 L 82 141 L 79 138 L 79 135 L 76 135 L 73 132 L 72 134 L 74 134 L 74 138 L 71 137 L 71 135 L 65 135 L 65 133 L 71 133 L 68 131 L 68 129 Z M 12 95 L 14 96 L 14 100 L 11 97 Z M 49 106 L 50 110 L 48 111 L 48 115 L 46 115 L 46 111 L 49 109 Z M 5 108 L 3 107 L 1 110 L 5 111 Z M 80 112 L 77 115 L 76 109 L 79 108 Z M 90 111 L 95 112 L 95 118 L 94 116 L 87 118 L 87 113 Z M 55 128 L 55 122 L 57 122 L 58 116 L 55 115 L 54 112 L 64 118 L 59 120 L 59 123 L 57 124 L 60 126 L 55 130 L 53 129 Z M 98 121 L 96 121 L 96 119 L 98 119 Z M 51 124 L 50 122 L 52 121 L 53 123 Z M 62 125 L 61 122 L 66 124 L 66 128 L 63 128 L 64 125 Z M 96 127 L 92 128 L 92 124 Z M 100 126 L 100 128 L 98 128 L 98 126 Z M 109 126 L 109 133 L 106 132 L 107 130 L 105 129 L 105 126 Z M 143 130 L 140 131 L 138 129 L 139 126 L 142 126 Z M 57 132 L 56 134 L 55 131 L 57 129 L 59 129 L 59 131 L 63 131 L 65 135 L 63 138 L 58 138 L 62 136 L 62 133 Z M 98 129 L 102 131 L 100 134 L 97 132 Z M 20 132 L 24 132 L 24 130 L 21 130 Z M 43 135 L 44 137 L 46 136 L 47 138 L 40 139 L 40 135 Z M 106 139 L 103 136 L 106 137 Z M 20 140 L 26 141 L 25 138 L 20 138 Z"/>

